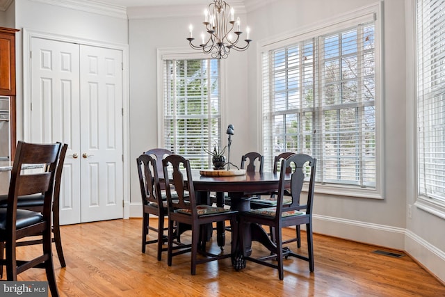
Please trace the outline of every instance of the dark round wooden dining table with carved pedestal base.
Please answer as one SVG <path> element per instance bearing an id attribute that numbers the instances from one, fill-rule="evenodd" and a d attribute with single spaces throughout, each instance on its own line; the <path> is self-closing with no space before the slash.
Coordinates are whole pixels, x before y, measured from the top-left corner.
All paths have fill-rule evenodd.
<path id="1" fill-rule="evenodd" d="M 200 174 L 200 170 L 192 170 L 193 187 L 197 192 L 197 199 L 200 203 L 210 204 L 209 193 L 216 192 L 217 206 L 224 205 L 225 193 L 230 197 L 231 209 L 243 212 L 250 210 L 250 197 L 258 193 L 276 192 L 280 183 L 280 175 L 273 172 L 246 172 L 245 175 L 211 177 Z M 290 178 L 286 179 L 284 188 L 290 185 Z M 236 226 L 238 228 L 238 226 Z M 217 224 L 217 241 L 218 246 L 223 247 L 225 244 L 225 226 L 222 223 Z M 239 228 L 238 228 L 239 229 Z M 238 234 L 238 244 L 235 251 L 232 251 L 232 264 L 236 270 L 245 267 L 243 255 L 250 254 L 249 242 L 255 240 L 270 246 L 273 244 L 269 236 L 259 225 L 252 224 L 250 228 L 245 228 L 249 234 Z M 244 247 L 241 250 L 239 244 L 240 237 L 243 236 Z M 247 244 L 246 244 L 247 243 Z"/>

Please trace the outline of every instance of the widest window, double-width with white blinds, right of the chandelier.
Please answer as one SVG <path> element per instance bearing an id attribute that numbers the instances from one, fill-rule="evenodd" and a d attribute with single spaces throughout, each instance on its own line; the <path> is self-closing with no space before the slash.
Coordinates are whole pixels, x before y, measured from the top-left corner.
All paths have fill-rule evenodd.
<path id="1" fill-rule="evenodd" d="M 376 22 L 359 19 L 264 47 L 266 168 L 280 152 L 302 152 L 317 159 L 321 184 L 377 188 Z"/>

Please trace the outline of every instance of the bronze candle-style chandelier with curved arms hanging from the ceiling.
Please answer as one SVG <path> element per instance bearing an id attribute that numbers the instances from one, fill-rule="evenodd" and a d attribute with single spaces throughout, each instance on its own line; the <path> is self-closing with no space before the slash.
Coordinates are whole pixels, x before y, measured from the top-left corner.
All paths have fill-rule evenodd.
<path id="1" fill-rule="evenodd" d="M 190 25 L 190 36 L 187 38 L 193 49 L 202 50 L 204 54 L 211 54 L 212 58 L 227 58 L 230 49 L 236 51 L 245 51 L 248 49 L 250 42 L 250 29 L 247 27 L 245 44 L 238 45 L 241 40 L 241 19 L 234 19 L 234 9 L 230 8 L 226 1 L 213 0 L 209 4 L 209 8 L 204 10 L 204 22 L 202 23 L 207 30 L 207 40 L 204 33 L 201 33 L 201 44 L 193 45 L 193 26 Z"/>

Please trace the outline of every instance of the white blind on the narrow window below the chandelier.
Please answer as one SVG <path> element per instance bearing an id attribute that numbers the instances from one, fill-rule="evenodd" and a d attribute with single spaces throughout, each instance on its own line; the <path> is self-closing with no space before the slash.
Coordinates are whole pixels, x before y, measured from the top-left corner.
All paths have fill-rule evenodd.
<path id="1" fill-rule="evenodd" d="M 164 147 L 209 168 L 203 148 L 220 145 L 220 61 L 165 60 L 163 79 Z"/>

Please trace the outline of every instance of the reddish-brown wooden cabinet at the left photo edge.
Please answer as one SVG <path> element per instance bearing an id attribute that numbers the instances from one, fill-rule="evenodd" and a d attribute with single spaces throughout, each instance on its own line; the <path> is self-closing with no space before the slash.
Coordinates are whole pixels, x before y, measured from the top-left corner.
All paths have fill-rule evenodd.
<path id="1" fill-rule="evenodd" d="M 15 33 L 0 27 L 0 95 L 10 97 L 11 157 L 15 154 Z"/>

